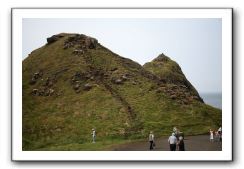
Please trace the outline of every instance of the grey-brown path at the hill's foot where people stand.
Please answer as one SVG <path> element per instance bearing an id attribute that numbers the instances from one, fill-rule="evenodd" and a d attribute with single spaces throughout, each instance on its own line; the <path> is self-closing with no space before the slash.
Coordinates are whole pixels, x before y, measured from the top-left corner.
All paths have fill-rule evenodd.
<path id="1" fill-rule="evenodd" d="M 168 137 L 156 139 L 156 147 L 154 151 L 169 151 Z M 210 142 L 208 135 L 186 136 L 186 151 L 221 151 L 221 142 Z M 114 151 L 149 151 L 149 143 L 147 141 L 126 143 L 112 148 Z"/>

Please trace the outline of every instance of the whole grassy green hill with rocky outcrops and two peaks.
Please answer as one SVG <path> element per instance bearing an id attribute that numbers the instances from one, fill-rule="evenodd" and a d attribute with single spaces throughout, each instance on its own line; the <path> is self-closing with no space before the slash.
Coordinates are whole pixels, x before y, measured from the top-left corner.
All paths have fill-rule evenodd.
<path id="1" fill-rule="evenodd" d="M 100 139 L 134 139 L 221 125 L 221 110 L 203 103 L 169 57 L 141 66 L 83 34 L 47 38 L 23 60 L 22 76 L 23 150 L 83 144 L 92 128 Z"/>

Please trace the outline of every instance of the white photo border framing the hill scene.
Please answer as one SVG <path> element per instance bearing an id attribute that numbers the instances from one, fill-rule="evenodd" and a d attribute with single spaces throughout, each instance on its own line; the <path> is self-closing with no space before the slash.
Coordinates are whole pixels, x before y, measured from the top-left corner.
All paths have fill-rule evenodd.
<path id="1" fill-rule="evenodd" d="M 12 8 L 13 161 L 232 161 L 232 8 Z M 221 18 L 222 151 L 22 151 L 23 18 Z"/>

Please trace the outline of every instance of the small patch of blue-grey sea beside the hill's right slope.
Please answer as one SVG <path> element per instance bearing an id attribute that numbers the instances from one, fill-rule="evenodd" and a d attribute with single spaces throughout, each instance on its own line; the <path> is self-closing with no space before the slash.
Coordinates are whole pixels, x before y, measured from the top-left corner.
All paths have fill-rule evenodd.
<path id="1" fill-rule="evenodd" d="M 200 93 L 204 103 L 222 109 L 222 93 Z"/>

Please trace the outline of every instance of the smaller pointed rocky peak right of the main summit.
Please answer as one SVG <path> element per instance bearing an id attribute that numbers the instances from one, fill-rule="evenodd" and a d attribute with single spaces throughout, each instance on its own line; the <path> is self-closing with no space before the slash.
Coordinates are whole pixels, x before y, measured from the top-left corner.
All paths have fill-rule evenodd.
<path id="1" fill-rule="evenodd" d="M 182 104 L 190 104 L 193 100 L 203 102 L 197 90 L 186 79 L 180 66 L 164 54 L 160 54 L 143 67 L 158 77 L 161 82 L 158 92 L 164 92 Z"/>

